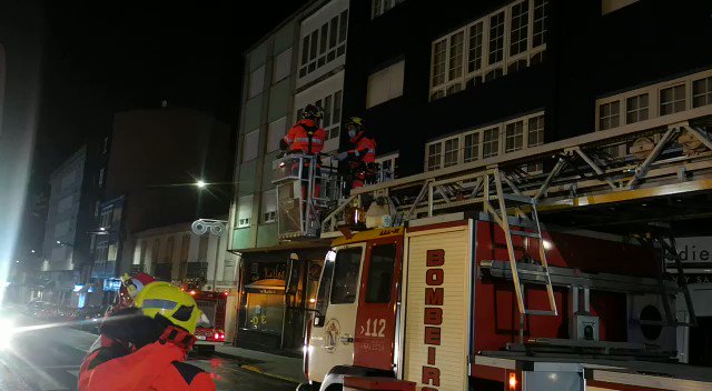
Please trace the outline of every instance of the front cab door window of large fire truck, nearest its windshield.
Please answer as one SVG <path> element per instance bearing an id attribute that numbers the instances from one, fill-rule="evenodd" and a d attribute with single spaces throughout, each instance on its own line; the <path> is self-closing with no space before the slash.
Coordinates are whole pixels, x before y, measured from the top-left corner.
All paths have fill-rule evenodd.
<path id="1" fill-rule="evenodd" d="M 332 304 L 350 304 L 358 297 L 358 274 L 360 272 L 360 247 L 339 250 L 334 265 Z"/>

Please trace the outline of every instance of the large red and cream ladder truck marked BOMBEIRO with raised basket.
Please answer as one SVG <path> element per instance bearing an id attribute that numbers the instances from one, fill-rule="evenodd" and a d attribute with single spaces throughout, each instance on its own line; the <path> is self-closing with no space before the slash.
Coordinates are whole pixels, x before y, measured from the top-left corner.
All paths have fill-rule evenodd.
<path id="1" fill-rule="evenodd" d="M 676 352 L 679 222 L 712 215 L 712 107 L 686 116 L 336 200 L 277 161 L 280 239 L 332 239 L 299 390 L 712 390 Z"/>

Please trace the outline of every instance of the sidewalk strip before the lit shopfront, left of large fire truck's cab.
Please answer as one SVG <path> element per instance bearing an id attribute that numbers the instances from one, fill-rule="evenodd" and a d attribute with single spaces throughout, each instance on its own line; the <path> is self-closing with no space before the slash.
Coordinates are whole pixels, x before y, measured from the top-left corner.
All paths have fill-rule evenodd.
<path id="1" fill-rule="evenodd" d="M 249 371 L 293 383 L 304 383 L 306 381 L 301 359 L 293 359 L 229 345 L 217 345 L 215 347 L 215 352 L 217 354 L 244 360 L 245 363 L 240 367 Z"/>

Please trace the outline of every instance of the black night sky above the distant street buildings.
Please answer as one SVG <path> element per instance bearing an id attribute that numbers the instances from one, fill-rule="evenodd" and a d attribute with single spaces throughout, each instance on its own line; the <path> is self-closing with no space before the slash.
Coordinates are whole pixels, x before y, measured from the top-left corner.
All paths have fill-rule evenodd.
<path id="1" fill-rule="evenodd" d="M 49 174 L 87 138 L 110 131 L 115 112 L 167 100 L 235 128 L 243 52 L 305 2 L 44 1 L 30 202 L 49 196 Z M 27 223 L 38 241 L 41 228 Z"/>

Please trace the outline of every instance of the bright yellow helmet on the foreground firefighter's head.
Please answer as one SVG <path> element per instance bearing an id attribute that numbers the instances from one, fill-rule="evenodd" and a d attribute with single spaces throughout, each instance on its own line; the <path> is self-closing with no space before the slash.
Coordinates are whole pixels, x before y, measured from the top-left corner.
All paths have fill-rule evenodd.
<path id="1" fill-rule="evenodd" d="M 160 314 L 191 334 L 196 332 L 196 324 L 202 315 L 190 294 L 164 281 L 147 284 L 134 301 L 145 315 L 156 318 Z"/>

